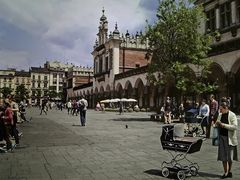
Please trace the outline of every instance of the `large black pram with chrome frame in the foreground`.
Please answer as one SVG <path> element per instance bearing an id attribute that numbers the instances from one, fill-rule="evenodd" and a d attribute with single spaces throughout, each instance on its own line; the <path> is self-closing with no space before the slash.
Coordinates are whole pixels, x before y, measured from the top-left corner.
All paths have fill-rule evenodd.
<path id="1" fill-rule="evenodd" d="M 175 135 L 177 134 L 174 126 L 167 125 L 162 128 L 160 138 L 162 148 L 163 150 L 167 150 L 172 156 L 170 161 L 162 163 L 162 175 L 168 177 L 170 172 L 175 172 L 179 180 L 184 180 L 187 175 L 196 176 L 198 174 L 198 164 L 188 160 L 187 154 L 200 151 L 202 139 L 176 137 Z"/>

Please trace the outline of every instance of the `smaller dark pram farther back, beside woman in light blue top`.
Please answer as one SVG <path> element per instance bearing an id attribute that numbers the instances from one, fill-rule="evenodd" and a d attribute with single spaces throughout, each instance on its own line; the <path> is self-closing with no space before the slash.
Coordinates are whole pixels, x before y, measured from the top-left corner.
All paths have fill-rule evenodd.
<path id="1" fill-rule="evenodd" d="M 190 109 L 185 114 L 185 123 L 187 128 L 185 129 L 186 136 L 196 137 L 202 134 L 201 124 L 205 117 L 198 116 L 197 109 Z"/>

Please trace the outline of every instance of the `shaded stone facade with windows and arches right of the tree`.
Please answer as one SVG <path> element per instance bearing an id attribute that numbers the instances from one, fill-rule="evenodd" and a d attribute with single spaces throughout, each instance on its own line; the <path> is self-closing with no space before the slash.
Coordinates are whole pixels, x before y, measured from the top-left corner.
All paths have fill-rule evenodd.
<path id="1" fill-rule="evenodd" d="M 232 108 L 240 110 L 240 0 L 203 1 L 207 21 L 203 33 L 212 33 L 214 40 L 209 57 L 212 74 L 209 81 L 216 81 L 216 95 L 231 97 Z"/>

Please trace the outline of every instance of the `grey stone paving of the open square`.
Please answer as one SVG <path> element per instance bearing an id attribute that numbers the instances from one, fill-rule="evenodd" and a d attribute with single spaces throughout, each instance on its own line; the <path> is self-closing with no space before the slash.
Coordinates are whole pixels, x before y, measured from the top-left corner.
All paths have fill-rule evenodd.
<path id="1" fill-rule="evenodd" d="M 79 116 L 66 110 L 39 113 L 37 108 L 27 110 L 32 121 L 19 126 L 24 133 L 21 146 L 0 154 L 0 180 L 176 178 L 161 175 L 162 162 L 171 156 L 160 144 L 163 124 L 149 121 L 149 113 L 88 110 L 85 127 L 79 126 Z M 200 166 L 199 175 L 187 179 L 219 179 L 223 173 L 217 147 L 209 139 L 187 157 Z M 233 164 L 233 179 L 240 179 L 239 165 Z"/>

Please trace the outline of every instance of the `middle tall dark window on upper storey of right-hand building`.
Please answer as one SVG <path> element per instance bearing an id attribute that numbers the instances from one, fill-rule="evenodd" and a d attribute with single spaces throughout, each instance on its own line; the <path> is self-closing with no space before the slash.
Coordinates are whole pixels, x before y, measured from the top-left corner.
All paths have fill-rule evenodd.
<path id="1" fill-rule="evenodd" d="M 221 28 L 229 27 L 231 24 L 231 6 L 230 2 L 220 6 L 220 22 Z"/>

